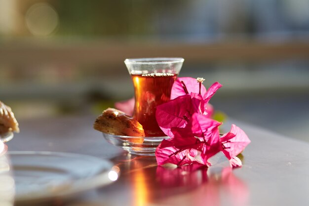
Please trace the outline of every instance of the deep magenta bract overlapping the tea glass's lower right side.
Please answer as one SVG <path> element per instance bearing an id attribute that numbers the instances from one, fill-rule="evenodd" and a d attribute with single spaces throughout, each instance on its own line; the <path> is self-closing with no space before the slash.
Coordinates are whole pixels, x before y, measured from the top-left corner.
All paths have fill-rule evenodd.
<path id="1" fill-rule="evenodd" d="M 194 113 L 190 95 L 179 96 L 156 107 L 155 118 L 161 130 L 174 137 L 172 127 L 185 127 Z"/>

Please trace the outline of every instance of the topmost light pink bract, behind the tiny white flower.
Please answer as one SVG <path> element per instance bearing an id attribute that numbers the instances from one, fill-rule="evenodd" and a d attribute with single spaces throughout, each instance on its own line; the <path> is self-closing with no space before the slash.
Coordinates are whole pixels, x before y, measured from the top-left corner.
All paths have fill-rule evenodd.
<path id="1" fill-rule="evenodd" d="M 175 99 L 178 96 L 182 96 L 182 95 L 186 94 L 181 81 L 183 81 L 185 83 L 189 94 L 191 92 L 194 92 L 194 93 L 197 93 L 197 94 L 199 93 L 199 83 L 196 81 L 196 79 L 194 79 L 192 77 L 180 77 L 180 78 L 176 79 L 176 81 L 174 82 L 174 84 L 172 86 L 171 99 Z M 203 84 L 201 85 L 201 95 L 202 95 L 203 99 L 206 98 L 206 88 Z"/>

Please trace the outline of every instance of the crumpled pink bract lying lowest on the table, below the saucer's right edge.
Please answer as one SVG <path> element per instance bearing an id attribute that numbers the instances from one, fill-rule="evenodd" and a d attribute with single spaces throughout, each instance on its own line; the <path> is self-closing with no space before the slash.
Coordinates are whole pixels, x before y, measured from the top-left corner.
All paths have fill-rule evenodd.
<path id="1" fill-rule="evenodd" d="M 197 155 L 197 151 L 194 149 L 181 151 L 174 146 L 161 148 L 161 144 L 155 150 L 155 158 L 158 165 L 164 165 L 167 163 L 178 166 L 186 164 L 189 165 L 193 163 L 193 158 Z"/>

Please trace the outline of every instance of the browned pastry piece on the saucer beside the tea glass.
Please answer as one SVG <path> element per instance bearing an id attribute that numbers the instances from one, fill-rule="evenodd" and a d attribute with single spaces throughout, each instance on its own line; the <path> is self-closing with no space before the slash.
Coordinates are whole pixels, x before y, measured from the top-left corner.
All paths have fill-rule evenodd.
<path id="1" fill-rule="evenodd" d="M 93 128 L 108 134 L 145 137 L 143 126 L 120 110 L 108 108 L 97 117 Z"/>

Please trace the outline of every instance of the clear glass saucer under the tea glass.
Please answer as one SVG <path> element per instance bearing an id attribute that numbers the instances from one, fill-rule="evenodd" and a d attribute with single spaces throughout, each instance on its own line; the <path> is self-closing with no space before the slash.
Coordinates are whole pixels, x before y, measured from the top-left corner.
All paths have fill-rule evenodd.
<path id="1" fill-rule="evenodd" d="M 123 150 L 128 151 L 133 155 L 154 156 L 156 147 L 162 142 L 163 139 L 170 137 L 132 137 L 121 136 L 114 134 L 103 133 L 104 138 L 111 144 L 121 147 Z"/>

